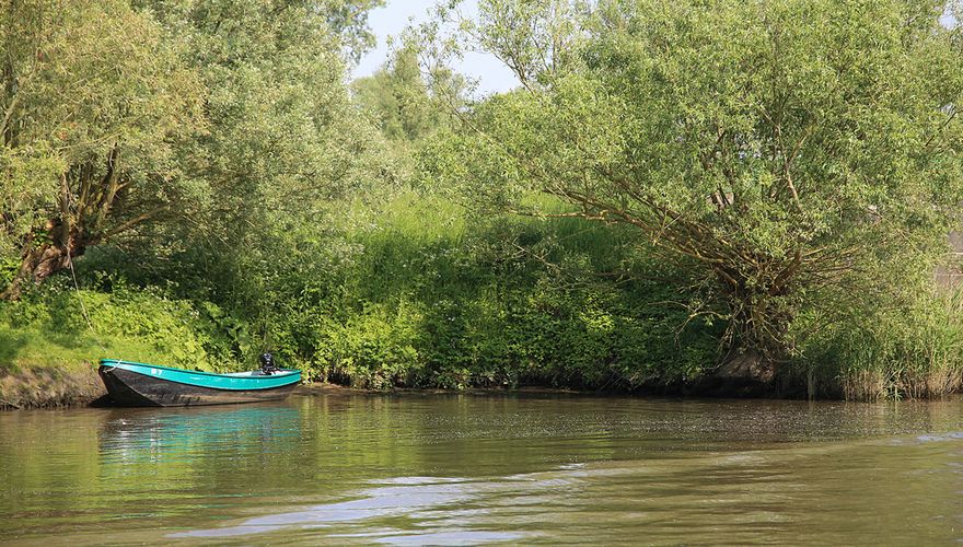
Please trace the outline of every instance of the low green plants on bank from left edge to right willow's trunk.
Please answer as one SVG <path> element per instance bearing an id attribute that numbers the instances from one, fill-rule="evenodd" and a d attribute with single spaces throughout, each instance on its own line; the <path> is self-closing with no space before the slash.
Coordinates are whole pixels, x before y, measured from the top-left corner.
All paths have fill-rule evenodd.
<path id="1" fill-rule="evenodd" d="M 672 303 L 684 295 L 669 282 L 681 274 L 641 264 L 648 258 L 631 255 L 625 234 L 577 220 L 503 219 L 469 231 L 440 198 L 395 197 L 356 212 L 352 222 L 371 228 L 343 234 L 338 255 L 309 247 L 258 270 L 257 294 L 234 287 L 209 296 L 220 305 L 200 300 L 194 282 L 159 289 L 166 271 L 109 268 L 113 253 L 91 253 L 79 272 L 85 290 L 74 293 L 63 277 L 5 305 L 8 336 L 34 336 L 14 363 L 106 352 L 240 368 L 269 347 L 312 377 L 364 387 L 633 387 L 694 379 L 715 363 L 721 330 L 686 325 L 686 309 Z M 293 269 L 308 256 L 325 266 Z M 619 279 L 619 268 L 650 277 Z M 104 277 L 107 269 L 128 278 Z"/>

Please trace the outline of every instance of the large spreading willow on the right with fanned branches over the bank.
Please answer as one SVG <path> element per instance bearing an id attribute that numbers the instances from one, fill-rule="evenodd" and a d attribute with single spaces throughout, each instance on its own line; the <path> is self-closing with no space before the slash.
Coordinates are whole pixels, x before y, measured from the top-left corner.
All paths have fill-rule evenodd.
<path id="1" fill-rule="evenodd" d="M 731 354 L 753 357 L 733 373 L 771 377 L 816 290 L 944 248 L 963 51 L 941 2 L 602 1 L 560 66 L 531 45 L 572 4 L 534 2 L 534 24 L 513 4 L 481 2 L 475 31 L 531 84 L 466 115 L 432 171 L 477 203 L 545 213 L 531 197 L 548 194 L 684 257 L 713 288 Z"/>

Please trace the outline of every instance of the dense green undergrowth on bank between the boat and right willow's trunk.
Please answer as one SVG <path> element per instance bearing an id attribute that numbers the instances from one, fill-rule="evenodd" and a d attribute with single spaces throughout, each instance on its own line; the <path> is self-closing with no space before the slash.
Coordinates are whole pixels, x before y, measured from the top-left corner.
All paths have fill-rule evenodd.
<path id="1" fill-rule="evenodd" d="M 373 231 L 349 234 L 361 251 L 340 293 L 305 310 L 326 307 L 313 330 L 301 330 L 314 340 L 294 345 L 317 348 L 316 377 L 368 387 L 630 388 L 694 379 L 715 362 L 718 328 L 686 325 L 687 310 L 664 303 L 685 300 L 665 278 L 593 276 L 640 258 L 592 224 L 469 230 L 457 208 L 424 195 L 372 214 L 382 220 Z M 546 270 L 544 256 L 565 266 Z"/>

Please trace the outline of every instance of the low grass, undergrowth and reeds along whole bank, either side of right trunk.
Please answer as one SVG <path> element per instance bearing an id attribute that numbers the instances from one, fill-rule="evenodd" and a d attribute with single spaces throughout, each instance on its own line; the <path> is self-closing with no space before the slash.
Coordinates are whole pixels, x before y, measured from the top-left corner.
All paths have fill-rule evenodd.
<path id="1" fill-rule="evenodd" d="M 149 267 L 93 253 L 78 261 L 80 291 L 61 276 L 0 304 L 0 366 L 82 373 L 119 357 L 227 371 L 271 350 L 312 381 L 373 389 L 684 393 L 721 358 L 724 321 L 693 315 L 697 289 L 629 232 L 573 219 L 474 223 L 414 193 L 350 217 L 325 238 L 288 234 L 222 269 L 190 251 Z M 165 268 L 181 282 L 165 283 Z M 940 295 L 855 313 L 809 337 L 771 393 L 954 392 L 960 312 L 959 295 Z"/>

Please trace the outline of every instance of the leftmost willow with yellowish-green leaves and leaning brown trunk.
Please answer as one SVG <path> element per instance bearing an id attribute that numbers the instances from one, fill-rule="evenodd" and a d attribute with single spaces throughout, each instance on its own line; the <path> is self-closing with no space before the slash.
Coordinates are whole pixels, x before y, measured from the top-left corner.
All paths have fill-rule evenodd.
<path id="1" fill-rule="evenodd" d="M 0 2 L 0 299 L 176 205 L 199 91 L 127 2 Z"/>

